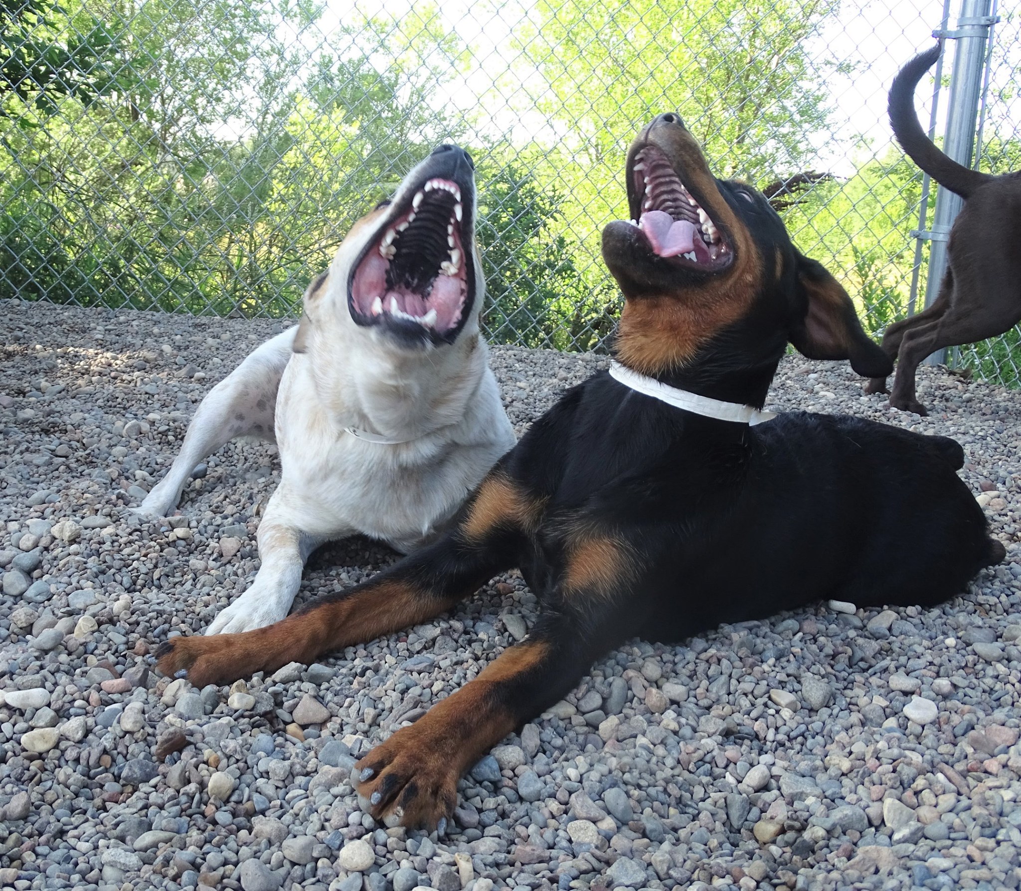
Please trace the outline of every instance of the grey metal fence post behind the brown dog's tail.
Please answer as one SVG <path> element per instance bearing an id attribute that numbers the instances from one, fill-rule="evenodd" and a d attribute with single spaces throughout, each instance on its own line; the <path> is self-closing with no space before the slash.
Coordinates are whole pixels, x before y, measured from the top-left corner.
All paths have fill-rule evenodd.
<path id="1" fill-rule="evenodd" d="M 975 148 L 975 124 L 986 61 L 985 45 L 994 21 L 993 16 L 989 15 L 990 5 L 991 0 L 961 0 L 961 15 L 957 28 L 933 32 L 934 37 L 958 41 L 954 53 L 954 71 L 951 74 L 943 152 L 966 167 L 971 166 Z M 925 285 L 926 307 L 931 306 L 939 294 L 939 285 L 946 270 L 946 242 L 963 203 L 960 196 L 939 187 L 936 193 L 936 212 L 932 228 L 928 232 L 932 247 L 929 251 L 929 270 Z M 937 350 L 925 361 L 928 365 L 945 363 L 946 350 Z"/>

